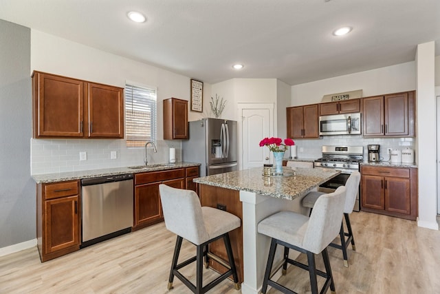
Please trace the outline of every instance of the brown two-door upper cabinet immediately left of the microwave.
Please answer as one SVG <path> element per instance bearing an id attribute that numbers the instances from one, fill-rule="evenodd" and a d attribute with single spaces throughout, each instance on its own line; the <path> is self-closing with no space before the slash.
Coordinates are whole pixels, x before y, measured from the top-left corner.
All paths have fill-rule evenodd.
<path id="1" fill-rule="evenodd" d="M 318 104 L 287 107 L 287 138 L 319 138 Z"/>

